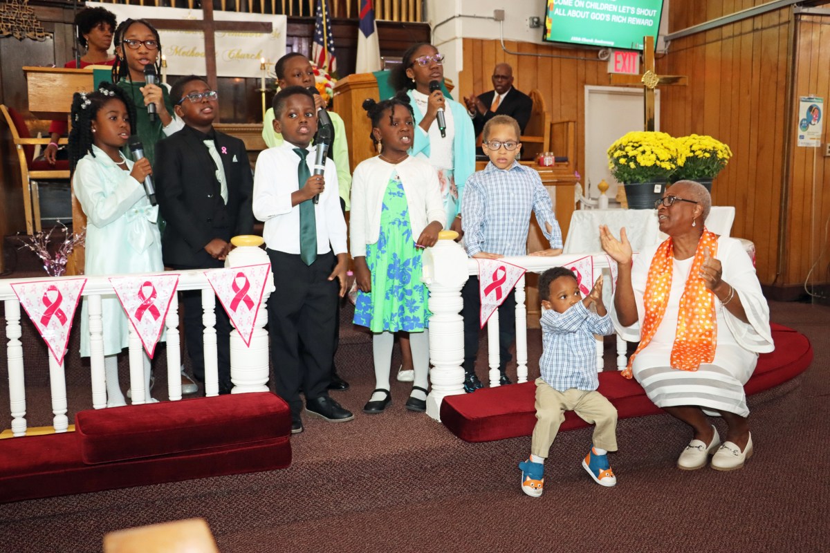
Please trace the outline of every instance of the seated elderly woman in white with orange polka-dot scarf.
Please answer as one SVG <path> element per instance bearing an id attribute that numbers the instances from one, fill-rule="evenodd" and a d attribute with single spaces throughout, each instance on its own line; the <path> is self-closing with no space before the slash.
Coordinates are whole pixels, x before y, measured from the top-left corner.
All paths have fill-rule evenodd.
<path id="1" fill-rule="evenodd" d="M 655 203 L 669 235 L 661 245 L 632 262 L 625 229 L 618 240 L 602 226 L 600 238 L 619 268 L 612 319 L 623 337 L 640 341 L 623 376 L 693 429 L 679 468 L 702 468 L 714 453 L 712 468 L 735 470 L 752 455 L 744 384 L 758 354 L 774 346 L 749 255 L 738 240 L 706 230 L 710 206 L 701 184 L 676 182 Z M 723 444 L 706 415 L 725 420 Z"/>

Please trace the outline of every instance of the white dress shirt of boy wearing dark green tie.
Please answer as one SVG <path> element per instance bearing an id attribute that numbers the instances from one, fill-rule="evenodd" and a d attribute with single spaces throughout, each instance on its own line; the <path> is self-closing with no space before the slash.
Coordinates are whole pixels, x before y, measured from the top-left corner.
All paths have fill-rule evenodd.
<path id="1" fill-rule="evenodd" d="M 256 158 L 254 171 L 254 216 L 265 222 L 262 237 L 268 249 L 286 254 L 300 255 L 300 206 L 291 206 L 291 194 L 300 189 L 297 182 L 297 167 L 300 156 L 289 142 L 276 148 L 263 150 Z M 315 148 L 307 148 L 305 163 L 309 174 L 314 173 Z M 337 184 L 337 168 L 330 159 L 326 160 L 325 189 L 320 194 L 320 203 L 315 205 L 317 225 L 317 255 L 334 250 L 334 254 L 346 253 L 346 221 L 340 211 Z M 301 183 L 305 186 L 305 182 Z M 310 201 L 310 200 L 309 200 Z"/>

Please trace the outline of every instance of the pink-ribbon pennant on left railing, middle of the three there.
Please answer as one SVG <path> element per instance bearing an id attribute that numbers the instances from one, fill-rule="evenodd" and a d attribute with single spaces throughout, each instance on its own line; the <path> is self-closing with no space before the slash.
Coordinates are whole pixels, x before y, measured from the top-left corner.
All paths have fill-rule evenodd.
<path id="1" fill-rule="evenodd" d="M 110 277 L 110 284 L 129 323 L 141 338 L 144 351 L 153 358 L 164 330 L 164 319 L 178 288 L 178 274 Z"/>

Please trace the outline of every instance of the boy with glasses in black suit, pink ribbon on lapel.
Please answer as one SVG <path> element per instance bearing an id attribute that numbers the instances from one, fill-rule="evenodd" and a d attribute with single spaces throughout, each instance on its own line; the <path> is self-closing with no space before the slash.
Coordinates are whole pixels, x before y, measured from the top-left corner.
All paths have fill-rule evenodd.
<path id="1" fill-rule="evenodd" d="M 224 266 L 232 236 L 251 234 L 253 177 L 245 144 L 213 129 L 218 95 L 203 77 L 182 77 L 170 90 L 173 110 L 185 127 L 156 144 L 153 177 L 167 226 L 164 264 L 173 269 Z M 204 381 L 202 291 L 181 292 L 184 337 L 193 376 Z M 219 393 L 230 393 L 230 333 L 227 313 L 216 308 Z"/>

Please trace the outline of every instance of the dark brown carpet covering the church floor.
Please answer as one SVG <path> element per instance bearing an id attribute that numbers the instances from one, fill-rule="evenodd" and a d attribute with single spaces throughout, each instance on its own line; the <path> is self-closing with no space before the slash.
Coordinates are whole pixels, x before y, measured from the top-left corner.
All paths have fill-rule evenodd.
<path id="1" fill-rule="evenodd" d="M 371 346 L 364 333 L 345 325 L 337 361 L 352 389 L 334 397 L 356 419 L 305 418 L 305 433 L 292 439 L 291 468 L 0 505 L 0 551 L 100 551 L 108 531 L 188 517 L 207 519 L 223 553 L 828 551 L 830 308 L 771 308 L 776 323 L 810 338 L 815 361 L 796 381 L 749 398 L 756 453 L 740 471 L 676 469 L 691 434 L 668 415 L 656 415 L 618 424 L 620 451 L 611 457 L 616 488 L 601 488 L 583 472 L 591 430 L 579 429 L 554 443 L 544 496 L 526 497 L 515 465 L 528 454 L 529 437 L 466 444 L 426 415 L 404 410 L 408 385 L 397 381 L 388 412 L 361 413 L 374 388 Z M 5 342 L 2 318 L 0 325 Z M 45 347 L 32 332 L 29 327 L 24 344 L 27 420 L 35 426 L 50 424 L 51 408 Z M 539 333 L 531 332 L 528 342 L 533 377 Z M 611 370 L 613 344 L 606 345 Z M 480 376 L 485 348 L 486 339 Z M 393 366 L 398 362 L 396 354 Z M 164 356 L 155 371 L 154 395 L 163 398 Z M 90 407 L 89 371 L 71 361 L 66 374 L 72 416 Z M 8 412 L 3 358 L 4 428 Z"/>

